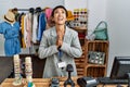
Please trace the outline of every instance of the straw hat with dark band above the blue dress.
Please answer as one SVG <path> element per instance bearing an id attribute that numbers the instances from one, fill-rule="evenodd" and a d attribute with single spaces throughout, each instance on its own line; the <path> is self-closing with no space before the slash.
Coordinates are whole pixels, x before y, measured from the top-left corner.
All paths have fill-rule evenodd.
<path id="1" fill-rule="evenodd" d="M 15 15 L 12 11 L 8 11 L 8 13 L 4 14 L 3 18 L 8 23 L 14 23 L 15 22 Z"/>

